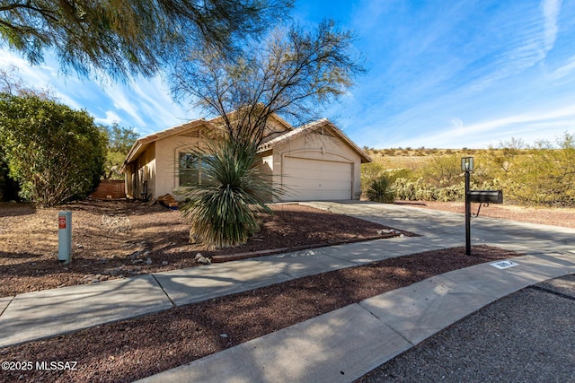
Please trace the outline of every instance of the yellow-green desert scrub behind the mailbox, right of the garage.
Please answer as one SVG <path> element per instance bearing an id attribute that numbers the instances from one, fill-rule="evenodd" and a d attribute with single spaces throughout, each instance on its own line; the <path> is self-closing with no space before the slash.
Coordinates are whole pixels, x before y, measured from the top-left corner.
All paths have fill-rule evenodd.
<path id="1" fill-rule="evenodd" d="M 398 199 L 463 200 L 464 177 L 460 161 L 462 156 L 473 154 L 472 189 L 503 190 L 506 203 L 518 205 L 575 206 L 573 134 L 565 133 L 553 143 L 540 141 L 533 146 L 511 139 L 497 149 L 429 152 L 437 154 L 423 160 L 403 157 L 398 161 L 398 158 L 385 156 L 379 159 L 388 169 L 381 174 L 394 183 Z M 409 171 L 402 173 L 389 169 Z"/>

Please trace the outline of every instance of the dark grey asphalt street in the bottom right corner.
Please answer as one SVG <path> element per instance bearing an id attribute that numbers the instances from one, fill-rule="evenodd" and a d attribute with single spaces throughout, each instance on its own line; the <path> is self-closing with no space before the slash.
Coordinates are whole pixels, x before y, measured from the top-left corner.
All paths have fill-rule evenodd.
<path id="1" fill-rule="evenodd" d="M 497 300 L 358 382 L 574 382 L 573 328 L 571 274 Z"/>

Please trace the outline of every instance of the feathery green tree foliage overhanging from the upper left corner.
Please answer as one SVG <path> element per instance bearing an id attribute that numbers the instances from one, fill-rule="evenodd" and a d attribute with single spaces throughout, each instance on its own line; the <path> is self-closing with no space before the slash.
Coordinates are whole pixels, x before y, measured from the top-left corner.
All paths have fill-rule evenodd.
<path id="1" fill-rule="evenodd" d="M 156 74 L 182 52 L 230 52 L 281 19 L 291 0 L 0 0 L 0 37 L 32 64 L 48 49 L 64 70 Z"/>

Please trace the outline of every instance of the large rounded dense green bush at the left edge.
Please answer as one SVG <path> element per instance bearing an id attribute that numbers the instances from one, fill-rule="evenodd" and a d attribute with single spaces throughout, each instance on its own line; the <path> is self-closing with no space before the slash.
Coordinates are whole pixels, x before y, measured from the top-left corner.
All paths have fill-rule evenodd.
<path id="1" fill-rule="evenodd" d="M 100 182 L 106 137 L 84 110 L 0 93 L 0 144 L 21 196 L 40 206 L 83 198 Z"/>

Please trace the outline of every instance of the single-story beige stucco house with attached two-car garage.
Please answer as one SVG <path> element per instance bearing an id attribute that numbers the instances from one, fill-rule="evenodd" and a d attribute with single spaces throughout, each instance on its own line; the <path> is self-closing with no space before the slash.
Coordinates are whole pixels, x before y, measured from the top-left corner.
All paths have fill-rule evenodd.
<path id="1" fill-rule="evenodd" d="M 127 196 L 157 198 L 173 194 L 190 179 L 201 179 L 201 164 L 194 161 L 192 152 L 205 147 L 217 120 L 198 119 L 138 139 L 121 168 Z M 321 119 L 293 127 L 272 115 L 268 129 L 260 146 L 259 167 L 282 190 L 276 199 L 359 199 L 360 165 L 371 158 L 332 122 Z"/>

